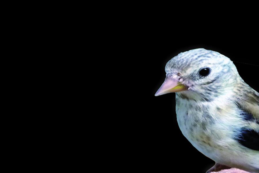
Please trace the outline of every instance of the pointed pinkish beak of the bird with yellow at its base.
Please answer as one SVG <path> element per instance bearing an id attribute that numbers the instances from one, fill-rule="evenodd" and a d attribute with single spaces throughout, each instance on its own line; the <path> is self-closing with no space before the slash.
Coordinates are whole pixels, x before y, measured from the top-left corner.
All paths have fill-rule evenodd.
<path id="1" fill-rule="evenodd" d="M 159 96 L 167 93 L 175 93 L 175 92 L 185 91 L 185 90 L 187 90 L 187 88 L 182 83 L 176 80 L 173 80 L 171 78 L 165 78 L 165 82 L 157 90 L 155 96 Z"/>

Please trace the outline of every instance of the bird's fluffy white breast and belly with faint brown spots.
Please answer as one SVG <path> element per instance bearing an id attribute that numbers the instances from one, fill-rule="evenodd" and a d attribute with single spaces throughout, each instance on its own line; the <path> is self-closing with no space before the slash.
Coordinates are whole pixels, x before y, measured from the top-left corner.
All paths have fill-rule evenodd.
<path id="1" fill-rule="evenodd" d="M 187 140 L 217 163 L 228 166 L 250 164 L 258 156 L 237 142 L 235 137 L 244 123 L 231 106 L 233 103 L 202 103 L 176 95 L 177 122 Z"/>

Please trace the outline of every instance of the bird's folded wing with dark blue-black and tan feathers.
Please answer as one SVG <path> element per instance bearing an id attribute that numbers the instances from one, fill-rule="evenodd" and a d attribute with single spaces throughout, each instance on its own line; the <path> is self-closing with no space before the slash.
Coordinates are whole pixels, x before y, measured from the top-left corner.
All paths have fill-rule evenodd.
<path id="1" fill-rule="evenodd" d="M 246 94 L 237 99 L 237 107 L 246 127 L 241 129 L 238 142 L 252 150 L 259 151 L 259 93 L 249 86 Z"/>

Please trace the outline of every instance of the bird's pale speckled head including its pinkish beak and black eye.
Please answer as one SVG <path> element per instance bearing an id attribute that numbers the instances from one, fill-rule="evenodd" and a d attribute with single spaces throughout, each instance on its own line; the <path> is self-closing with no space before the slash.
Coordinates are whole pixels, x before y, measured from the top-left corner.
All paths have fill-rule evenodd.
<path id="1" fill-rule="evenodd" d="M 242 80 L 228 57 L 203 48 L 178 54 L 167 62 L 165 72 L 165 81 L 155 96 L 177 92 L 186 99 L 208 101 Z"/>

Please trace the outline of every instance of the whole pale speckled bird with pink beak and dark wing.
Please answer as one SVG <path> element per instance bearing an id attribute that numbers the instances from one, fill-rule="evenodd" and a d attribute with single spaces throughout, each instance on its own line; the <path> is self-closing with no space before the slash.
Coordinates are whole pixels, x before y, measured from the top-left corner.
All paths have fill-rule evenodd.
<path id="1" fill-rule="evenodd" d="M 228 57 L 198 48 L 165 65 L 166 78 L 155 96 L 176 93 L 182 134 L 224 168 L 259 172 L 259 93 L 239 76 Z"/>

